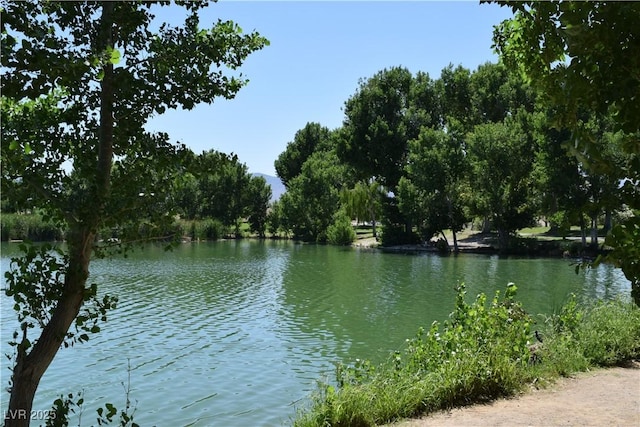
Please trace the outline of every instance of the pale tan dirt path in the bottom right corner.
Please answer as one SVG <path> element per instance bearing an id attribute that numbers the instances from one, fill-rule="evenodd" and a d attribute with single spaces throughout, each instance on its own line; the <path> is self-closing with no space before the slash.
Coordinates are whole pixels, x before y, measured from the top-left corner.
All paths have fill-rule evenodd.
<path id="1" fill-rule="evenodd" d="M 640 427 L 640 363 L 577 374 L 517 398 L 438 412 L 393 426 Z"/>

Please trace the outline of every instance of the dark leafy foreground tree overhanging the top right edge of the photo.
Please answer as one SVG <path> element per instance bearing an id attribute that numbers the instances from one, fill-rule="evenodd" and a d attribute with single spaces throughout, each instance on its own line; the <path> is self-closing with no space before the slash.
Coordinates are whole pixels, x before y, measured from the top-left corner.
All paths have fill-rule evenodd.
<path id="1" fill-rule="evenodd" d="M 508 2 L 512 19 L 496 27 L 502 60 L 541 89 L 554 109 L 553 123 L 572 132 L 568 147 L 587 167 L 612 169 L 596 137 L 581 120 L 583 108 L 612 114 L 628 154 L 622 168 L 624 203 L 633 215 L 617 224 L 607 259 L 622 268 L 640 305 L 640 4 L 636 2 Z"/>

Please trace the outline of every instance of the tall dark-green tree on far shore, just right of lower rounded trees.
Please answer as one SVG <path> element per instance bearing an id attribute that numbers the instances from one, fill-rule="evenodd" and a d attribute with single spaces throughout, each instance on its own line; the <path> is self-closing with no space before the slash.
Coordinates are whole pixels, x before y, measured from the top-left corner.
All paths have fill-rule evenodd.
<path id="1" fill-rule="evenodd" d="M 345 103 L 338 157 L 362 182 L 375 180 L 389 193 L 382 197 L 384 244 L 413 240 L 412 224 L 397 209 L 395 194 L 404 174 L 408 141 L 423 127 L 443 126 L 438 83 L 428 74 L 415 77 L 402 67 L 384 69 L 361 80 Z"/>

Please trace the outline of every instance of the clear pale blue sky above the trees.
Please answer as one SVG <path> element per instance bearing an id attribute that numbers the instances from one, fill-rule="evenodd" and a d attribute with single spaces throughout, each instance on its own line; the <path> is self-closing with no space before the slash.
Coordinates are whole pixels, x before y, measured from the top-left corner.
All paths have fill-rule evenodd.
<path id="1" fill-rule="evenodd" d="M 179 23 L 176 10 L 158 19 Z M 195 153 L 235 153 L 249 172 L 275 176 L 274 161 L 308 122 L 330 129 L 360 79 L 406 67 L 438 78 L 449 64 L 476 69 L 497 62 L 493 26 L 511 10 L 474 1 L 225 1 L 202 11 L 200 24 L 232 20 L 270 46 L 240 68 L 249 79 L 232 100 L 169 111 L 147 129 L 167 132 Z"/>

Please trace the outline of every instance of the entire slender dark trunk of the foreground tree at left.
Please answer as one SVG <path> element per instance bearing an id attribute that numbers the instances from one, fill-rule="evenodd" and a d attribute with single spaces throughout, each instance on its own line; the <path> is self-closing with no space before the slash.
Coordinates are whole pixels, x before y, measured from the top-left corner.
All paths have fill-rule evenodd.
<path id="1" fill-rule="evenodd" d="M 113 2 L 102 4 L 100 32 L 97 49 L 105 52 L 113 48 Z M 103 65 L 104 76 L 100 82 L 100 129 L 98 162 L 95 170 L 95 193 L 91 193 L 93 209 L 79 209 L 84 214 L 77 222 L 69 224 L 69 261 L 65 273 L 64 289 L 51 316 L 42 329 L 40 337 L 29 353 L 18 348 L 16 365 L 13 368 L 9 408 L 5 414 L 5 426 L 28 426 L 33 398 L 40 379 L 53 361 L 69 327 L 78 316 L 84 302 L 85 284 L 89 276 L 89 262 L 104 206 L 111 190 L 111 167 L 113 164 L 113 64 Z M 92 197 L 91 197 L 92 196 Z M 86 207 L 85 207 L 86 208 Z"/>

